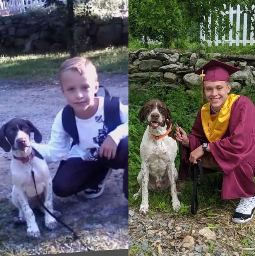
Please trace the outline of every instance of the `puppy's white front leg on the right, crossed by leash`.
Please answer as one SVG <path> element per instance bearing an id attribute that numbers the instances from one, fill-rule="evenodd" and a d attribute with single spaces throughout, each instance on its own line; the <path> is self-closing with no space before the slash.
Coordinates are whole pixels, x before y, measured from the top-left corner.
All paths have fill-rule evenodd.
<path id="1" fill-rule="evenodd" d="M 52 199 L 52 180 L 49 177 L 46 183 L 46 187 L 44 190 L 44 196 L 45 196 L 45 203 L 44 206 L 51 212 L 55 213 L 53 211 L 53 199 Z M 56 220 L 53 218 L 46 210 L 44 211 L 44 221 L 45 221 L 45 226 L 48 230 L 53 230 L 56 227 Z"/>

